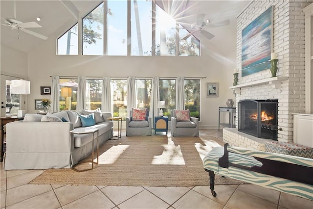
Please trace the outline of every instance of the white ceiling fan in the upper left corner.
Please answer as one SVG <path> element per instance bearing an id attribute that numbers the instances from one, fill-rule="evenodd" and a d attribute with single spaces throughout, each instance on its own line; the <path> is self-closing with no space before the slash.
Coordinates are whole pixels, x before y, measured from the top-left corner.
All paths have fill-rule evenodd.
<path id="1" fill-rule="evenodd" d="M 36 22 L 27 22 L 27 23 L 23 23 L 22 21 L 16 20 L 16 2 L 13 1 L 13 14 L 14 14 L 14 18 L 6 18 L 4 20 L 5 24 L 1 24 L 3 26 L 10 26 L 12 30 L 17 29 L 18 30 L 18 38 L 20 39 L 20 30 L 28 33 L 30 35 L 36 36 L 37 38 L 41 38 L 41 39 L 48 39 L 48 37 L 36 33 L 34 31 L 25 29 L 25 28 L 35 28 L 35 27 L 42 27 L 40 26 L 38 23 Z M 1 18 L 2 19 L 2 18 Z M 3 20 L 3 19 L 2 19 Z"/>

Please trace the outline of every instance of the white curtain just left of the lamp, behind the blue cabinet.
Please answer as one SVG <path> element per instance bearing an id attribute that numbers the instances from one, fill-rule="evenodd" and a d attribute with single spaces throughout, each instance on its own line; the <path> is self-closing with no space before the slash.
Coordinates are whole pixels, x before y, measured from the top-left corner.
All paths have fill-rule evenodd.
<path id="1" fill-rule="evenodd" d="M 150 117 L 152 118 L 152 126 L 154 128 L 155 117 L 158 116 L 157 103 L 160 100 L 159 77 L 152 78 L 152 91 L 150 99 Z"/>

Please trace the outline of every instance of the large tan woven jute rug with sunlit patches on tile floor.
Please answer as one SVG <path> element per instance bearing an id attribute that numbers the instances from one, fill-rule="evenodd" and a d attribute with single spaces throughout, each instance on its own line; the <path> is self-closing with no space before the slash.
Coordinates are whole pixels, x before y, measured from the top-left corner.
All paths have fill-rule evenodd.
<path id="1" fill-rule="evenodd" d="M 220 142 L 221 143 L 221 142 Z M 48 169 L 32 180 L 36 184 L 126 185 L 126 186 L 195 186 L 209 185 L 202 158 L 221 146 L 201 137 L 167 135 L 122 136 L 108 140 L 99 148 L 99 164 L 93 170 Z M 89 156 L 90 158 L 90 156 Z M 86 159 L 85 159 L 86 160 Z M 85 161 L 84 160 L 84 161 Z M 77 165 L 81 170 L 91 162 Z M 216 176 L 215 184 L 243 182 Z"/>

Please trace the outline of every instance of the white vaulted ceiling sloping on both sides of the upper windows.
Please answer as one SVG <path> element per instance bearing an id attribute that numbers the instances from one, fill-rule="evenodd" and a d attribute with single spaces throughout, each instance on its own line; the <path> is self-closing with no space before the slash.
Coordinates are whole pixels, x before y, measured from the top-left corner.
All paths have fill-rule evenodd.
<path id="1" fill-rule="evenodd" d="M 69 3 L 68 3 L 69 2 Z M 29 30 L 42 34 L 49 39 L 56 39 L 55 31 L 66 31 L 70 26 L 77 22 L 75 15 L 84 17 L 101 0 L 17 0 L 16 19 L 25 22 L 37 22 L 42 27 L 30 28 Z M 157 4 L 173 5 L 172 1 L 156 0 Z M 184 6 L 184 11 L 178 14 L 190 17 L 188 21 L 196 19 L 198 12 L 205 13 L 205 20 L 216 23 L 229 19 L 228 26 L 221 26 L 208 29 L 215 35 L 211 40 L 202 35 L 198 35 L 203 43 L 209 43 L 226 51 L 230 42 L 236 43 L 236 16 L 246 7 L 250 1 L 246 0 L 181 0 L 176 1 Z M 7 18 L 14 18 L 14 1 L 0 0 L 1 8 L 1 45 L 8 46 L 21 52 L 31 52 L 36 46 L 45 42 L 45 40 L 25 33 L 23 31 L 12 30 L 10 26 L 4 26 Z M 181 7 L 183 8 L 183 7 Z M 40 17 L 41 21 L 36 21 Z M 187 19 L 186 19 L 187 20 Z M 190 24 L 192 24 L 190 22 Z M 18 32 L 19 37 L 18 39 Z"/>

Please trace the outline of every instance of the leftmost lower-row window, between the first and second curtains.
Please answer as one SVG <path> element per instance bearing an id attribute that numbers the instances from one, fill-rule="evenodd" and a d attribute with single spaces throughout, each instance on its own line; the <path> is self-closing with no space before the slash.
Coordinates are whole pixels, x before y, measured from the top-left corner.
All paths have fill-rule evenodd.
<path id="1" fill-rule="evenodd" d="M 76 110 L 78 79 L 60 79 L 60 111 Z"/>

